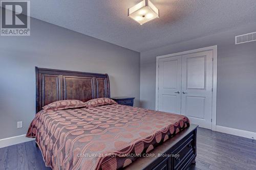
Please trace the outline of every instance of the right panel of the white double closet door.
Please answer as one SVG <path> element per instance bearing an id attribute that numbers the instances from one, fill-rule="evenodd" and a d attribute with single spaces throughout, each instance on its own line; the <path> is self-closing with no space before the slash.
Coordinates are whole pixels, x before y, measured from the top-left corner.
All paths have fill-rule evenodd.
<path id="1" fill-rule="evenodd" d="M 181 114 L 211 129 L 212 51 L 182 56 Z"/>

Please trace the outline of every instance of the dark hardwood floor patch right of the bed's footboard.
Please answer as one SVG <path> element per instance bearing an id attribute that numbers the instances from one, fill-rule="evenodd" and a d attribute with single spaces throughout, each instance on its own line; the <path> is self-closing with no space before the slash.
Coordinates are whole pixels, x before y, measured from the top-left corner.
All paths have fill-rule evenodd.
<path id="1" fill-rule="evenodd" d="M 190 170 L 255 170 L 256 140 L 198 128 L 196 161 Z"/>

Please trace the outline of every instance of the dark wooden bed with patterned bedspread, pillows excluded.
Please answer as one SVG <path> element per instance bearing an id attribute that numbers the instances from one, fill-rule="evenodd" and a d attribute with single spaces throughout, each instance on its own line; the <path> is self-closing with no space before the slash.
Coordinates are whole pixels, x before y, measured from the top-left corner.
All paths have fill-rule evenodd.
<path id="1" fill-rule="evenodd" d="M 42 112 L 56 101 L 110 98 L 107 74 L 36 67 L 35 137 L 52 169 L 186 169 L 197 126 L 183 115 L 118 104 Z"/>

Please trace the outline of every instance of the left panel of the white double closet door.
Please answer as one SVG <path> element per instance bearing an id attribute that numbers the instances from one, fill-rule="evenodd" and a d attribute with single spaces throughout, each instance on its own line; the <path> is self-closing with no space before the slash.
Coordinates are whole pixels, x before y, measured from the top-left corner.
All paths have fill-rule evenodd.
<path id="1" fill-rule="evenodd" d="M 181 56 L 159 59 L 158 110 L 181 113 Z"/>

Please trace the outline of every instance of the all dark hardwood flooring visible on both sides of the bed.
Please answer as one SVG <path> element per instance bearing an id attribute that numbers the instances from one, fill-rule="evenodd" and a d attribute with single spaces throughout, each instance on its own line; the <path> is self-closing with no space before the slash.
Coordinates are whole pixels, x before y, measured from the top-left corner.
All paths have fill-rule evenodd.
<path id="1" fill-rule="evenodd" d="M 190 170 L 256 169 L 256 140 L 198 128 L 196 165 Z M 51 169 L 34 141 L 0 148 L 0 169 Z"/>

